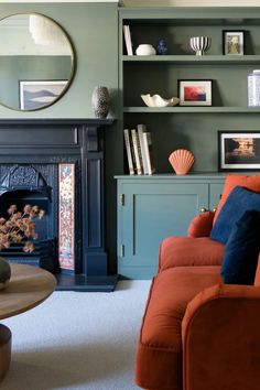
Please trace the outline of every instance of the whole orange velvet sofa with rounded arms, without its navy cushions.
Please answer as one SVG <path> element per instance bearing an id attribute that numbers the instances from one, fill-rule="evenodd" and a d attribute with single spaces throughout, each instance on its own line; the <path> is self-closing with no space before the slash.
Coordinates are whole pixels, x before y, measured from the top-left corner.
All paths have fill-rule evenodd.
<path id="1" fill-rule="evenodd" d="M 229 175 L 219 213 L 236 185 Z M 217 215 L 207 212 L 187 237 L 165 238 L 152 281 L 136 357 L 136 383 L 147 390 L 260 389 L 260 257 L 254 285 L 224 284 L 225 246 L 212 240 Z"/>

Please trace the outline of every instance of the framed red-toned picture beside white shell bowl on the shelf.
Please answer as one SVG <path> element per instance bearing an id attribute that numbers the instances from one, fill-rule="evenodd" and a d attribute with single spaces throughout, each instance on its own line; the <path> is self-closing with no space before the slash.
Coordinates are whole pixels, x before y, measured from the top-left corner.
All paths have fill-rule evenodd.
<path id="1" fill-rule="evenodd" d="M 212 106 L 212 80 L 178 80 L 180 106 Z"/>

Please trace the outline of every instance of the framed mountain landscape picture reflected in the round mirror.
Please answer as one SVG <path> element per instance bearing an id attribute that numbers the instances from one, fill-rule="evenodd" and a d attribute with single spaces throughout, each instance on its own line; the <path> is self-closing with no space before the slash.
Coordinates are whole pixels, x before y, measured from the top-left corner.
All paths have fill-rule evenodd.
<path id="1" fill-rule="evenodd" d="M 51 105 L 66 85 L 67 80 L 19 82 L 20 109 L 36 110 Z"/>

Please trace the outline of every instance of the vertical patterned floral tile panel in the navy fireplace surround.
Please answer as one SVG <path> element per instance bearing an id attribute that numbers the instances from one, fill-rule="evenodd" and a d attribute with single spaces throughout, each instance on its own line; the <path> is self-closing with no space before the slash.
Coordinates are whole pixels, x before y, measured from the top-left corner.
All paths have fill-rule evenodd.
<path id="1" fill-rule="evenodd" d="M 58 262 L 75 270 L 75 164 L 58 164 Z"/>

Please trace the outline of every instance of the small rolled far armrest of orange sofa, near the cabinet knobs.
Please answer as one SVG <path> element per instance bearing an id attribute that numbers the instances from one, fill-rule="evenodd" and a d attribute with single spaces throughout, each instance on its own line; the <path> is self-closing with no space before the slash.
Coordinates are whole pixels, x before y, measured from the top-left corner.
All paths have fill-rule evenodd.
<path id="1" fill-rule="evenodd" d="M 215 212 L 205 212 L 193 218 L 188 228 L 188 237 L 208 237 L 213 228 Z"/>

